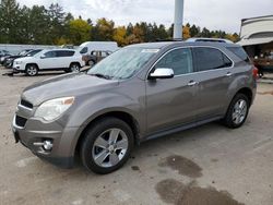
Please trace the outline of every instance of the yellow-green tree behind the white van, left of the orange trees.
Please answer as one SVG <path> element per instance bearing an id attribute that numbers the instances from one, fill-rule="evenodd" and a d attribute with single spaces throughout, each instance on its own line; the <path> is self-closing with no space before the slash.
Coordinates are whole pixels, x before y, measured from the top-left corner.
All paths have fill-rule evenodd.
<path id="1" fill-rule="evenodd" d="M 70 40 L 74 45 L 80 45 L 90 40 L 91 25 L 84 20 L 70 21 Z"/>

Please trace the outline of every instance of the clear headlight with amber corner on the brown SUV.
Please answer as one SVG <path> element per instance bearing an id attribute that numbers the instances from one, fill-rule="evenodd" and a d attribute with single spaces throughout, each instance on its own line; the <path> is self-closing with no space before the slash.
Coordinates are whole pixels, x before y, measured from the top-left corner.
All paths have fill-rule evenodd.
<path id="1" fill-rule="evenodd" d="M 74 97 L 62 97 L 50 99 L 41 104 L 34 117 L 43 118 L 46 121 L 52 121 L 66 112 L 74 102 Z"/>

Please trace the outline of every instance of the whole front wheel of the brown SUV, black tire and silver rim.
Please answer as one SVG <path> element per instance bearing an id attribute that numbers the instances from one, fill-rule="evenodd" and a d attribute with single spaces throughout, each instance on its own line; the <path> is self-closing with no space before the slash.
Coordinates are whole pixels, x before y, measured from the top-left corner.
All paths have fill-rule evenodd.
<path id="1" fill-rule="evenodd" d="M 132 130 L 124 121 L 104 118 L 85 132 L 80 149 L 81 160 L 87 170 L 110 173 L 129 159 L 133 144 Z"/>

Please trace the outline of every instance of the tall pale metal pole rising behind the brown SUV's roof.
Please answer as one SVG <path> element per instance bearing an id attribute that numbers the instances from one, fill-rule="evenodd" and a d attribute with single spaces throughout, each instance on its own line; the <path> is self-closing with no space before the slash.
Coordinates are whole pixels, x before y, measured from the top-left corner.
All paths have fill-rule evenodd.
<path id="1" fill-rule="evenodd" d="M 174 24 L 174 39 L 182 38 L 183 26 L 183 0 L 176 0 L 175 4 L 175 24 Z"/>

